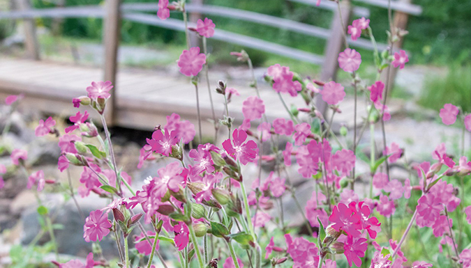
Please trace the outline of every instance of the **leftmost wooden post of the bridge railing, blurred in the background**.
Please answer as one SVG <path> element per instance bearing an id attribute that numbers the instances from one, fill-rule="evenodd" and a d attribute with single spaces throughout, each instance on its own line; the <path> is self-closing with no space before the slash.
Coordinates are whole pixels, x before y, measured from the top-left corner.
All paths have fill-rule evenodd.
<path id="1" fill-rule="evenodd" d="M 19 10 L 30 10 L 31 3 L 29 0 L 17 0 L 17 8 Z M 27 56 L 35 61 L 39 61 L 39 43 L 36 36 L 36 24 L 34 19 L 24 19 L 24 46 L 26 47 Z"/>

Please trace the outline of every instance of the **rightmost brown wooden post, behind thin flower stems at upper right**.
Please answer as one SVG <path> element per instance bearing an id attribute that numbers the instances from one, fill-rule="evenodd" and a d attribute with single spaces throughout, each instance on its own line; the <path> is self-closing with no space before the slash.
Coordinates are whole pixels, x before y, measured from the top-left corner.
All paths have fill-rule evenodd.
<path id="1" fill-rule="evenodd" d="M 403 3 L 412 3 L 412 0 L 399 0 L 400 2 Z M 393 19 L 393 27 L 394 31 L 396 29 L 402 29 L 405 30 L 406 27 L 408 26 L 408 19 L 409 15 L 408 13 L 402 13 L 401 11 L 396 11 L 394 13 L 394 19 Z M 394 42 L 393 45 L 393 54 L 394 52 L 398 52 L 401 47 L 403 46 L 404 38 L 400 38 L 397 42 Z M 386 81 L 388 82 L 387 88 L 388 88 L 388 95 L 390 96 L 392 93 L 392 90 L 394 88 L 394 81 L 396 80 L 396 74 L 398 72 L 398 68 L 394 68 L 390 66 L 391 70 L 388 70 L 388 68 L 384 69 L 381 74 L 381 81 L 384 81 L 384 84 L 386 84 Z M 387 79 L 387 74 L 389 72 L 389 79 Z"/>

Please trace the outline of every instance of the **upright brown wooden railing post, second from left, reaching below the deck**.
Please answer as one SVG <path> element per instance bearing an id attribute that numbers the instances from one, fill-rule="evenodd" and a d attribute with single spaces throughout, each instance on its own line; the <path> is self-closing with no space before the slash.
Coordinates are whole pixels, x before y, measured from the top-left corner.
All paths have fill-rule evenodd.
<path id="1" fill-rule="evenodd" d="M 105 44 L 105 76 L 104 81 L 111 81 L 114 88 L 110 100 L 107 101 L 105 119 L 107 125 L 114 123 L 114 109 L 116 107 L 118 85 L 117 85 L 117 56 L 121 23 L 120 0 L 106 0 L 105 18 L 103 20 L 104 44 Z"/>

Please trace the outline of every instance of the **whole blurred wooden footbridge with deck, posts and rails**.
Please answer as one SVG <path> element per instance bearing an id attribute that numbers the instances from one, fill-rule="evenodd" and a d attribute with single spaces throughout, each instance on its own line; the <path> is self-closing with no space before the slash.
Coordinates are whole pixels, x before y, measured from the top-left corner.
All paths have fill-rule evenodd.
<path id="1" fill-rule="evenodd" d="M 289 0 L 298 3 L 311 5 L 313 0 Z M 387 0 L 357 0 L 374 6 L 382 6 Z M 368 17 L 369 10 L 364 7 L 354 7 L 350 1 L 343 0 L 340 12 L 344 19 L 344 24 L 350 22 L 350 15 Z M 133 127 L 138 129 L 151 129 L 156 123 L 165 122 L 165 116 L 172 111 L 177 111 L 182 117 L 195 122 L 195 93 L 193 85 L 183 76 L 167 77 L 156 75 L 149 70 L 118 70 L 117 50 L 119 48 L 119 22 L 120 19 L 128 19 L 133 22 L 150 24 L 176 31 L 184 31 L 184 23 L 178 19 L 160 20 L 155 15 L 140 13 L 140 11 L 156 11 L 156 3 L 120 3 L 119 0 L 106 0 L 104 7 L 100 6 L 78 6 L 67 8 L 47 8 L 31 9 L 29 0 L 17 0 L 18 10 L 0 12 L 0 19 L 23 19 L 24 31 L 26 33 L 25 47 L 29 58 L 0 58 L 0 97 L 10 94 L 24 93 L 27 98 L 24 105 L 45 111 L 48 113 L 63 114 L 72 113 L 71 99 L 78 95 L 84 95 L 85 88 L 91 81 L 110 80 L 115 85 L 115 93 L 110 102 L 110 113 L 108 120 L 114 125 Z M 338 13 L 336 3 L 322 1 L 319 8 L 334 10 Z M 419 15 L 421 8 L 414 6 L 410 0 L 398 0 L 391 3 L 391 8 L 396 10 L 394 24 L 401 29 L 405 29 L 408 15 Z M 221 29 L 216 29 L 214 39 L 231 42 L 243 47 L 260 49 L 265 52 L 280 54 L 299 61 L 306 61 L 316 65 L 322 65 L 321 79 L 335 79 L 337 70 L 337 55 L 342 49 L 343 40 L 341 22 L 334 19 L 331 29 L 322 29 L 310 24 L 294 22 L 288 19 L 262 15 L 246 10 L 235 10 L 220 6 L 202 5 L 202 1 L 193 1 L 186 9 L 193 14 L 207 14 L 241 19 L 257 24 L 274 26 L 280 29 L 295 31 L 307 36 L 315 36 L 327 39 L 327 46 L 324 55 L 316 55 L 310 52 L 301 51 L 291 47 L 285 47 L 273 42 L 267 42 L 257 38 L 242 36 Z M 104 68 L 89 68 L 79 65 L 65 65 L 40 61 L 38 41 L 36 40 L 36 26 L 33 19 L 36 17 L 102 17 L 104 23 L 104 47 L 105 64 Z M 337 14 L 334 18 L 339 17 Z M 361 39 L 357 41 L 349 40 L 352 47 L 373 49 L 369 40 Z M 386 45 L 378 44 L 380 49 Z M 399 44 L 400 45 L 400 44 Z M 215 81 L 211 81 L 215 84 Z M 205 89 L 206 81 L 202 81 L 200 89 L 200 104 L 202 118 L 209 119 L 211 108 L 209 95 Z M 242 118 L 241 104 L 249 95 L 254 95 L 253 88 L 248 86 L 237 87 L 241 93 L 240 97 L 234 98 L 230 105 L 231 116 Z M 219 95 L 214 94 L 216 116 L 223 114 L 223 100 Z M 267 114 L 269 118 L 286 116 L 283 106 L 278 100 L 278 96 L 272 90 L 262 90 L 262 99 L 267 104 Z M 293 100 L 294 104 L 301 104 L 301 98 Z M 346 102 L 345 107 L 350 107 Z M 347 109 L 348 110 L 348 109 Z M 345 111 L 345 109 L 344 109 Z M 203 120 L 208 126 L 210 123 Z M 204 127 L 209 129 L 211 127 Z"/>

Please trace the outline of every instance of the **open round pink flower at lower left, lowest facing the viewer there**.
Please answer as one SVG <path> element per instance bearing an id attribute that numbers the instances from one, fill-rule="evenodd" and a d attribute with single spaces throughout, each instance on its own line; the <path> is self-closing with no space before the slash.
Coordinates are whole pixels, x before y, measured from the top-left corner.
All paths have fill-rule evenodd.
<path id="1" fill-rule="evenodd" d="M 108 214 L 103 214 L 101 210 L 90 212 L 90 216 L 85 219 L 85 241 L 101 241 L 103 237 L 110 233 L 111 226 L 110 221 L 108 221 Z"/>

